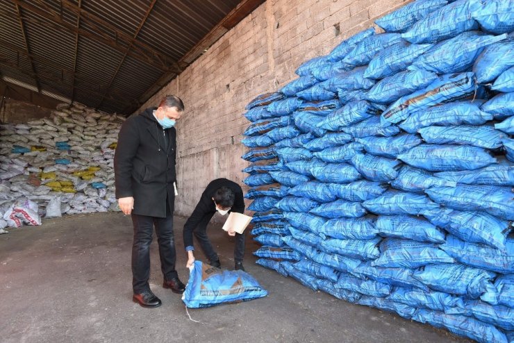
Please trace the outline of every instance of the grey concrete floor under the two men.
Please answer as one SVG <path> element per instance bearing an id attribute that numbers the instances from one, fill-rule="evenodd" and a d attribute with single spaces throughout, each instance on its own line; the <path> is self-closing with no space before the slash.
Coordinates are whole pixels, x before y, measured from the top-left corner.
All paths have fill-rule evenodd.
<path id="1" fill-rule="evenodd" d="M 175 219 L 177 270 L 188 280 Z M 233 244 L 220 225 L 209 228 L 223 267 Z M 249 238 L 249 237 L 248 237 Z M 269 296 L 189 310 L 160 287 L 156 239 L 151 288 L 163 301 L 144 309 L 131 301 L 130 217 L 120 213 L 47 219 L 0 235 L 1 342 L 470 342 L 397 315 L 313 292 L 292 278 L 255 265 L 247 240 L 245 267 Z M 197 251 L 202 260 L 201 252 Z"/>

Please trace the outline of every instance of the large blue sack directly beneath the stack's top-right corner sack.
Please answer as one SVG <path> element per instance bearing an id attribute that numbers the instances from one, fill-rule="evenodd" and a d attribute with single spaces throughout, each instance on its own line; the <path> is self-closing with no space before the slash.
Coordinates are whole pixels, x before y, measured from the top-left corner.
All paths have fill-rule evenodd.
<path id="1" fill-rule="evenodd" d="M 484 47 L 504 40 L 507 35 L 486 35 L 481 31 L 467 31 L 436 44 L 417 58 L 407 69 L 423 69 L 437 74 L 467 72 Z"/>

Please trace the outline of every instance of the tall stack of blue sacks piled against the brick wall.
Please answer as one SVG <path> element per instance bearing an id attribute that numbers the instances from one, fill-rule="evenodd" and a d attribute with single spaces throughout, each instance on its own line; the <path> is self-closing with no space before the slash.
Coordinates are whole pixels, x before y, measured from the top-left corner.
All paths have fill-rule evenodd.
<path id="1" fill-rule="evenodd" d="M 417 0 L 249 103 L 257 263 L 514 340 L 514 1 Z"/>

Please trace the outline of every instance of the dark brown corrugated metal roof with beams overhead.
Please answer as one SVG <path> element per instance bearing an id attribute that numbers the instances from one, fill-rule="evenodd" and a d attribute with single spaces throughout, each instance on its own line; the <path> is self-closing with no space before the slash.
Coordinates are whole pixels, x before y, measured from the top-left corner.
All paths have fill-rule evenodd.
<path id="1" fill-rule="evenodd" d="M 0 78 L 130 115 L 264 0 L 0 0 Z"/>

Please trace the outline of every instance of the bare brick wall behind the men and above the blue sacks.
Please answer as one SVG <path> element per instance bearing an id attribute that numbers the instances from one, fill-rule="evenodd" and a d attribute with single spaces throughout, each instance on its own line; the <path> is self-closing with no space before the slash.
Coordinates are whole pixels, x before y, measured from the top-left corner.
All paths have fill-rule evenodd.
<path id="1" fill-rule="evenodd" d="M 179 196 L 176 214 L 189 215 L 214 178 L 242 183 L 244 106 L 296 78 L 302 62 L 329 53 L 341 40 L 403 6 L 402 0 L 267 0 L 154 95 L 185 103 L 177 123 Z M 377 29 L 378 31 L 378 29 Z M 138 111 L 139 112 L 139 111 Z"/>

